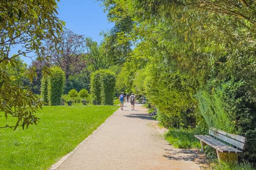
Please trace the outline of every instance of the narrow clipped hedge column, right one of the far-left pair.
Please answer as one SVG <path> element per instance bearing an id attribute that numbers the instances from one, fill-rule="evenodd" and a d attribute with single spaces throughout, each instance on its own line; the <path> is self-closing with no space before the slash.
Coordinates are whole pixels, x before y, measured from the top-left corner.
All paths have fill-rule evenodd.
<path id="1" fill-rule="evenodd" d="M 48 76 L 48 101 L 50 105 L 59 105 L 63 94 L 65 72 L 59 67 L 51 68 L 52 76 Z"/>

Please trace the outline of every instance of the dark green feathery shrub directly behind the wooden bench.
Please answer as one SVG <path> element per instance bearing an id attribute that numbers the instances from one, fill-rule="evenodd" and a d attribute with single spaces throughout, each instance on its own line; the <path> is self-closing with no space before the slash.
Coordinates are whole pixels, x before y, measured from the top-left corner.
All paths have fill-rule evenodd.
<path id="1" fill-rule="evenodd" d="M 209 127 L 248 138 L 242 155 L 256 162 L 256 106 L 250 102 L 247 91 L 246 82 L 231 79 L 208 85 L 198 92 L 197 99 L 199 111 Z"/>

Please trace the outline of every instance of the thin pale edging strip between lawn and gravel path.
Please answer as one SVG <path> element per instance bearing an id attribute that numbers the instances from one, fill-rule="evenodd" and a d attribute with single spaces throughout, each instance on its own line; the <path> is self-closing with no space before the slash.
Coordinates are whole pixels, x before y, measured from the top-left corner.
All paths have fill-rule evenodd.
<path id="1" fill-rule="evenodd" d="M 119 110 L 120 108 L 118 108 Z M 78 148 L 86 141 L 88 140 L 94 133 L 96 133 L 98 131 L 98 129 L 106 122 L 108 121 L 108 119 L 110 119 L 112 116 L 114 116 L 118 110 L 116 110 L 110 117 L 108 117 L 103 123 L 101 123 L 98 128 L 93 131 L 93 133 L 89 136 L 87 136 L 83 141 L 81 141 L 78 146 L 76 148 L 73 149 L 73 151 L 71 151 L 70 153 L 67 153 L 66 155 L 62 156 L 58 162 L 56 162 L 55 164 L 53 164 L 48 170 L 57 170 L 59 168 L 59 166 L 67 159 L 69 158 L 75 151 L 78 150 Z"/>

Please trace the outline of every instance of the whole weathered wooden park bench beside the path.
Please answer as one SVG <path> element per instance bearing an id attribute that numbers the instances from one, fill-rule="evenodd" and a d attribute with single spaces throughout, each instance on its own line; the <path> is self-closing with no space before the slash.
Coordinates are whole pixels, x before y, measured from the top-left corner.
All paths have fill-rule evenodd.
<path id="1" fill-rule="evenodd" d="M 209 135 L 195 135 L 201 142 L 201 147 L 209 145 L 216 149 L 218 160 L 237 161 L 238 153 L 246 148 L 247 138 L 229 134 L 218 129 L 209 130 Z"/>

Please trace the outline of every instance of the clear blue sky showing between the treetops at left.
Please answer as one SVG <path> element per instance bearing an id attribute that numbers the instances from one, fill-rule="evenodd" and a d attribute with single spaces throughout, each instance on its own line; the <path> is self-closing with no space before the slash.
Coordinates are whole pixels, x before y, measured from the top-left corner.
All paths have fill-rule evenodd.
<path id="1" fill-rule="evenodd" d="M 103 40 L 100 32 L 107 32 L 113 23 L 107 20 L 103 7 L 96 0 L 60 0 L 58 2 L 58 17 L 66 22 L 65 28 L 76 34 L 90 36 L 98 44 Z M 28 65 L 30 58 L 21 57 Z"/>

